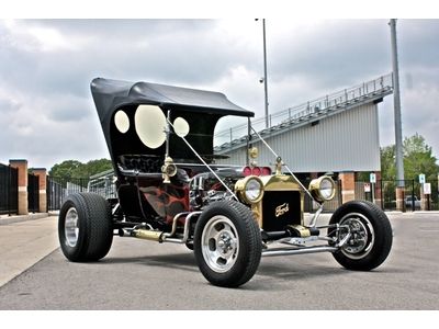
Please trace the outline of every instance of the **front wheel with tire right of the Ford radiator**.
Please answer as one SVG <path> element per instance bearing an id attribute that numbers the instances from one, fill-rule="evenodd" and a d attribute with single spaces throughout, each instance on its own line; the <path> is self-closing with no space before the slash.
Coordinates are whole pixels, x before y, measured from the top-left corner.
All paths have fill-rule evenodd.
<path id="1" fill-rule="evenodd" d="M 345 203 L 329 220 L 329 225 L 336 224 L 339 230 L 333 230 L 328 236 L 338 235 L 338 241 L 348 238 L 340 250 L 333 253 L 336 261 L 346 269 L 369 271 L 387 258 L 392 248 L 392 227 L 384 212 L 373 203 Z"/>

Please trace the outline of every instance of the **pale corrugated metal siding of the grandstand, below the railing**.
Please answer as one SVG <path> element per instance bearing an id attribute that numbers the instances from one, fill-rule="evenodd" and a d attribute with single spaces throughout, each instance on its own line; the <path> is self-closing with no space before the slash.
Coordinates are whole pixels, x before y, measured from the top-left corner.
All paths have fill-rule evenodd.
<path id="1" fill-rule="evenodd" d="M 380 170 L 378 106 L 369 103 L 320 120 L 318 124 L 266 137 L 271 148 L 294 172 Z M 260 143 L 258 164 L 269 166 L 274 157 Z M 246 148 L 229 154 L 218 163 L 245 164 Z"/>

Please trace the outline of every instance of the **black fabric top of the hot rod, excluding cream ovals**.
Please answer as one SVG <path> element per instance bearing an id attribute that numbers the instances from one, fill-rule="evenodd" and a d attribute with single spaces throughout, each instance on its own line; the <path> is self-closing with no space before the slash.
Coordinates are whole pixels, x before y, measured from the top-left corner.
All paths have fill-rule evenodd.
<path id="1" fill-rule="evenodd" d="M 114 128 L 114 115 L 123 109 L 134 126 L 134 114 L 139 104 L 157 105 L 170 120 L 182 117 L 190 124 L 187 139 L 201 155 L 213 154 L 213 135 L 217 121 L 225 115 L 252 117 L 254 112 L 232 103 L 223 93 L 189 88 L 128 82 L 97 78 L 91 81 L 91 93 L 98 110 L 102 131 L 114 161 L 125 155 L 162 156 L 165 146 L 146 147 L 135 129 L 121 134 Z M 193 152 L 175 135 L 170 136 L 170 156 L 177 159 L 195 159 Z"/>

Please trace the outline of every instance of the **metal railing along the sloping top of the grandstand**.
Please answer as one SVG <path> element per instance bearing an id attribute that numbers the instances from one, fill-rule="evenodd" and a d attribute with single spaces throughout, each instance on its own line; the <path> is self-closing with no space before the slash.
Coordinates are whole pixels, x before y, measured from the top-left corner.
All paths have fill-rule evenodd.
<path id="1" fill-rule="evenodd" d="M 374 95 L 381 94 L 393 89 L 392 73 L 381 76 L 371 81 L 357 84 L 349 89 L 344 89 L 331 94 L 318 98 L 313 101 L 288 107 L 283 111 L 270 114 L 268 117 L 269 127 L 281 124 L 289 124 L 311 118 L 313 115 L 322 114 L 325 111 L 336 110 L 351 102 L 363 101 Z M 252 127 L 262 132 L 266 129 L 266 117 L 259 117 L 251 121 Z M 221 131 L 214 136 L 214 145 L 233 144 L 234 140 L 241 139 L 248 135 L 247 123 Z"/>

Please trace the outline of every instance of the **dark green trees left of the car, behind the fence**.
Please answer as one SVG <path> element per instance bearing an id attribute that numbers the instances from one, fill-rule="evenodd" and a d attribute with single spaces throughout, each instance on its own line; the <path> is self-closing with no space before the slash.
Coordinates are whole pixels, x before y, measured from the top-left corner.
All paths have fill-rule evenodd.
<path id="1" fill-rule="evenodd" d="M 109 159 L 90 160 L 87 163 L 82 163 L 78 160 L 65 160 L 54 164 L 48 174 L 63 179 L 88 179 L 90 175 L 112 168 L 113 164 Z"/>

